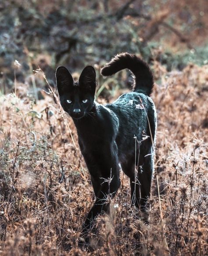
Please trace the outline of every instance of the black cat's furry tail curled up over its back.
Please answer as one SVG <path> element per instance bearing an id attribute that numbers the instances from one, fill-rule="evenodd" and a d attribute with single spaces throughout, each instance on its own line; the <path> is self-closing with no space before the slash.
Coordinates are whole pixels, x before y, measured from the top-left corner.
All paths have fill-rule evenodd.
<path id="1" fill-rule="evenodd" d="M 109 76 L 125 68 L 131 70 L 134 75 L 133 91 L 141 90 L 144 94 L 150 96 L 154 86 L 153 74 L 148 64 L 136 55 L 127 52 L 120 53 L 111 59 L 100 70 L 100 73 Z"/>

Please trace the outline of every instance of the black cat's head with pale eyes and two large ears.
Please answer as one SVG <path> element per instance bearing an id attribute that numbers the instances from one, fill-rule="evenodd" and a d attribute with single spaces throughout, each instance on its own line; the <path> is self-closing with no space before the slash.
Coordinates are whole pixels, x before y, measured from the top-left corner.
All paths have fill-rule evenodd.
<path id="1" fill-rule="evenodd" d="M 93 108 L 96 88 L 93 67 L 85 67 L 78 82 L 74 81 L 67 68 L 58 67 L 56 81 L 61 106 L 72 118 L 80 119 Z"/>

